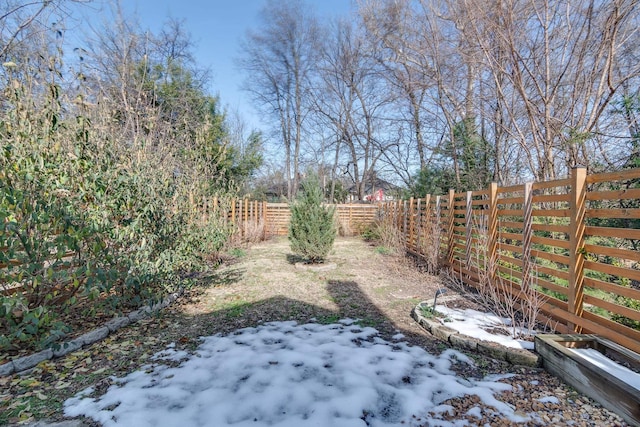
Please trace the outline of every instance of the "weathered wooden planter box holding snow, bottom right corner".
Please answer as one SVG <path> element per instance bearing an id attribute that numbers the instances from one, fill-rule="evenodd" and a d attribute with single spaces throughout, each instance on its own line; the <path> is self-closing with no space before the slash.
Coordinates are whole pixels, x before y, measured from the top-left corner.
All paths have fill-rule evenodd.
<path id="1" fill-rule="evenodd" d="M 597 335 L 537 335 L 542 366 L 632 425 L 640 426 L 640 355 Z M 638 375 L 634 384 L 571 349 L 594 349 Z M 634 373 L 630 374 L 634 375 Z M 625 377 L 627 378 L 627 377 Z M 633 381 L 632 381 L 633 382 Z"/>

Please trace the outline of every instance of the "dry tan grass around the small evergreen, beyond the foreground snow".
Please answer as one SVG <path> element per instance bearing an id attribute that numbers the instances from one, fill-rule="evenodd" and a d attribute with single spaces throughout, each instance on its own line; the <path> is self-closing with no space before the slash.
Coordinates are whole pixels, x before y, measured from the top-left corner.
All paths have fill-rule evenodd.
<path id="1" fill-rule="evenodd" d="M 324 265 L 296 261 L 286 238 L 252 246 L 245 257 L 216 272 L 212 280 L 218 283 L 194 296 L 184 313 L 194 318 L 217 313 L 209 325 L 216 332 L 273 320 L 357 318 L 382 334 L 400 331 L 415 336 L 416 344 L 433 344 L 409 313 L 440 283 L 416 270 L 411 260 L 383 255 L 358 238 L 340 238 Z"/>

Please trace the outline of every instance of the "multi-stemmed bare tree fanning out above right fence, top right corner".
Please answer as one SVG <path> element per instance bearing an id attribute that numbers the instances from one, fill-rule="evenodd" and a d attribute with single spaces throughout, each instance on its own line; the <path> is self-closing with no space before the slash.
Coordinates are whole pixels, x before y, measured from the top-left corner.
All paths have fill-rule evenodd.
<path id="1" fill-rule="evenodd" d="M 497 95 L 515 98 L 509 132 L 541 180 L 593 161 L 588 148 L 607 108 L 637 63 L 622 53 L 638 31 L 638 2 L 468 0 Z M 469 14 L 468 16 L 471 16 Z M 558 163 L 563 160 L 564 164 Z"/>

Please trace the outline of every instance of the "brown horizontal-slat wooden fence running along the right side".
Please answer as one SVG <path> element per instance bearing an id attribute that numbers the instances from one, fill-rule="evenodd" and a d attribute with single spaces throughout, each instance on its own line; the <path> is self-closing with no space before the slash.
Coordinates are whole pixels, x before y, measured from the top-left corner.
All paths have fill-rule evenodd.
<path id="1" fill-rule="evenodd" d="M 533 287 L 541 320 L 640 352 L 640 169 L 389 202 L 407 249 L 469 285 Z M 505 286 L 506 285 L 506 286 Z M 522 302 L 522 300 L 521 300 Z M 557 323 L 556 323 L 557 322 Z"/>

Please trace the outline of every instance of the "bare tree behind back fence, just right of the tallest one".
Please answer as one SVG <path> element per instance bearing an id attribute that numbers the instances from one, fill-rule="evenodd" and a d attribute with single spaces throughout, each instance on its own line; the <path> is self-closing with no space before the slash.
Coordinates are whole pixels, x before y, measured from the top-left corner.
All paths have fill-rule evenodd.
<path id="1" fill-rule="evenodd" d="M 387 82 L 374 50 L 352 22 L 335 23 L 321 52 L 316 114 L 333 130 L 334 174 L 340 165 L 363 200 L 366 181 L 373 183 L 376 162 L 390 146 Z"/>

